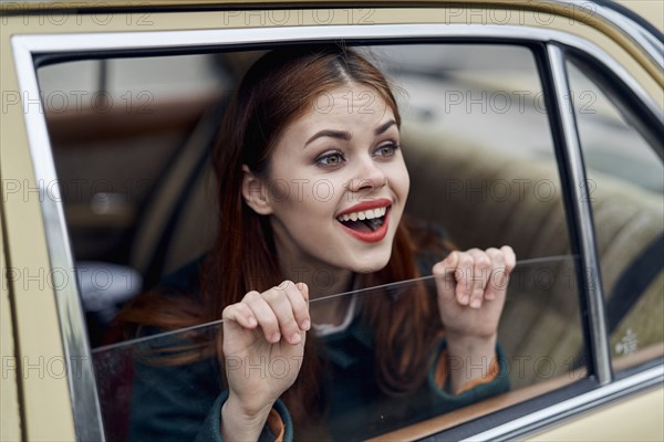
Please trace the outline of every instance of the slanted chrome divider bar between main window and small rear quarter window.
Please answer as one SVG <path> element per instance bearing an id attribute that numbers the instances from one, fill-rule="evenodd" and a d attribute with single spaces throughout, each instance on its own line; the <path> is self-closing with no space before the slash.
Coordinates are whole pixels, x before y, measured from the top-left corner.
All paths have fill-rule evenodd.
<path id="1" fill-rule="evenodd" d="M 592 362 L 594 375 L 600 385 L 605 385 L 612 380 L 611 370 L 611 350 L 609 349 L 609 334 L 606 333 L 606 314 L 604 312 L 604 295 L 602 286 L 602 275 L 600 262 L 598 260 L 598 249 L 594 238 L 594 225 L 592 209 L 588 194 L 588 182 L 585 177 L 585 167 L 581 154 L 581 141 L 577 119 L 574 117 L 574 106 L 571 99 L 570 85 L 568 82 L 566 56 L 563 50 L 557 44 L 548 44 L 547 53 L 549 56 L 549 70 L 552 75 L 552 86 L 556 101 L 558 102 L 558 118 L 561 124 L 563 141 L 566 145 L 564 161 L 569 172 L 569 191 L 572 196 L 572 203 L 577 227 L 580 230 L 581 244 L 581 277 L 584 280 L 583 286 L 587 291 L 587 307 L 590 317 L 589 337 L 591 340 Z"/>

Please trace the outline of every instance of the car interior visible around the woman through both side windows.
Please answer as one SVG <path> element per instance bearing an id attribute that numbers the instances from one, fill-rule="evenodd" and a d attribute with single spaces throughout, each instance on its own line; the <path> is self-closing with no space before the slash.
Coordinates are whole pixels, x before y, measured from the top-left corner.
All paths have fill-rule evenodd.
<path id="1" fill-rule="evenodd" d="M 532 397 L 582 377 L 578 284 L 583 275 L 570 249 L 566 190 L 531 51 L 456 43 L 359 50 L 396 85 L 411 175 L 407 214 L 444 227 L 460 250 L 508 244 L 522 262 L 511 277 L 499 329 L 512 362 L 512 388 L 531 387 Z M 98 367 L 131 371 L 126 358 L 115 358 L 127 347 L 117 347 L 123 344 L 110 333 L 114 315 L 215 241 L 220 214 L 208 156 L 229 96 L 262 52 L 90 59 L 40 67 Z M 570 65 L 569 73 L 579 85 L 574 104 L 590 178 L 579 186 L 593 209 L 611 350 L 615 364 L 629 367 L 643 351 L 664 352 L 657 314 L 664 308 L 664 264 L 657 254 L 664 241 L 662 160 L 583 66 Z M 72 97 L 80 98 L 75 108 Z M 117 377 L 104 380 L 98 367 L 102 401 L 127 400 L 126 379 L 123 385 Z M 494 403 L 505 407 L 522 398 Z M 126 413 L 103 410 L 107 427 L 126 431 L 120 422 Z M 452 425 L 473 417 L 446 419 Z M 377 428 L 373 435 L 400 425 Z"/>

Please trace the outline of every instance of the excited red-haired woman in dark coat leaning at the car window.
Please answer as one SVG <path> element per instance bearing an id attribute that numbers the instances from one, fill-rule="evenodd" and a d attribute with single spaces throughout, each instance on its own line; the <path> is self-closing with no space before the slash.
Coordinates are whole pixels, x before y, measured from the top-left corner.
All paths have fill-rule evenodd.
<path id="1" fill-rule="evenodd" d="M 443 411 L 507 388 L 496 334 L 515 254 L 445 251 L 418 269 L 421 232 L 402 220 L 400 123 L 385 77 L 351 49 L 278 50 L 249 70 L 214 150 L 217 243 L 163 284 L 174 291 L 123 314 L 159 330 L 221 317 L 222 333 L 167 367 L 139 366 L 134 439 L 290 439 L 373 397 L 426 398 L 421 406 Z M 440 244 L 434 235 L 428 245 Z M 433 296 L 416 285 L 309 304 L 429 271 Z M 279 376 L 256 369 L 274 360 L 286 365 Z M 196 368 L 183 375 L 181 362 Z M 189 380 L 169 386 L 176 375 Z"/>

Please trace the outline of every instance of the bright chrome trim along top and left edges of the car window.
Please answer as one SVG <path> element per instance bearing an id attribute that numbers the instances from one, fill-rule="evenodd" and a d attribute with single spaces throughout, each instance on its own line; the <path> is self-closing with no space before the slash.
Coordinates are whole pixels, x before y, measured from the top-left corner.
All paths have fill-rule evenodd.
<path id="1" fill-rule="evenodd" d="M 599 46 L 583 39 L 549 29 L 511 25 L 481 25 L 481 24 L 376 24 L 376 25 L 328 25 L 328 27 L 288 27 L 288 28 L 260 28 L 227 29 L 227 30 L 194 30 L 194 31 L 146 31 L 146 32 L 116 32 L 116 33 L 73 33 L 73 34 L 39 34 L 14 35 L 11 45 L 19 77 L 19 87 L 23 94 L 39 96 L 37 72 L 33 56 L 39 54 L 65 54 L 71 52 L 83 53 L 94 51 L 95 54 L 104 51 L 151 51 L 157 49 L 184 50 L 187 48 L 232 48 L 239 44 L 273 44 L 289 41 L 315 40 L 371 40 L 372 43 L 386 42 L 396 39 L 467 39 L 468 41 L 483 42 L 490 40 L 492 43 L 526 42 L 559 42 L 573 46 L 591 54 L 613 70 L 631 87 L 646 107 L 658 115 L 658 106 L 650 98 L 641 85 L 615 60 Z M 42 112 L 28 112 L 31 103 L 23 103 L 25 126 L 30 151 L 37 182 L 52 182 L 55 180 L 55 168 L 51 145 L 46 131 L 46 124 Z M 50 191 L 52 191 L 50 189 Z M 66 223 L 59 196 L 41 199 L 44 217 L 44 229 L 49 246 L 51 265 L 72 270 L 73 256 L 69 243 Z M 70 275 L 73 278 L 73 274 Z M 90 346 L 85 333 L 85 324 L 77 290 L 65 287 L 55 291 L 60 325 L 65 354 L 68 357 L 80 356 L 90 359 Z M 601 285 L 595 296 L 602 297 Z M 592 317 L 591 319 L 595 319 Z M 602 336 L 602 327 L 598 330 Z M 605 328 L 604 328 L 605 333 Z M 604 338 L 605 335 L 604 335 Z M 604 362 L 602 362 L 604 365 Z M 71 365 L 70 365 L 71 366 Z M 71 367 L 70 367 L 71 369 Z M 98 398 L 96 394 L 92 365 L 84 366 L 84 372 L 76 372 L 74 378 L 70 372 L 70 393 L 77 438 L 81 440 L 103 440 L 104 433 L 101 421 Z M 75 381 L 74 381 L 75 379 Z M 605 381 L 606 376 L 602 375 Z M 527 418 L 527 417 L 526 417 Z"/>

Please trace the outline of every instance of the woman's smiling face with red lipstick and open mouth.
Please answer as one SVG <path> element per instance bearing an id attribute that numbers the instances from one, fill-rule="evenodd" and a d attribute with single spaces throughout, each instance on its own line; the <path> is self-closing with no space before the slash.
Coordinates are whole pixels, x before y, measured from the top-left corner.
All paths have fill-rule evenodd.
<path id="1" fill-rule="evenodd" d="M 390 260 L 408 194 L 394 113 L 352 84 L 323 94 L 290 124 L 261 181 L 287 274 L 373 272 Z"/>

